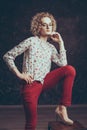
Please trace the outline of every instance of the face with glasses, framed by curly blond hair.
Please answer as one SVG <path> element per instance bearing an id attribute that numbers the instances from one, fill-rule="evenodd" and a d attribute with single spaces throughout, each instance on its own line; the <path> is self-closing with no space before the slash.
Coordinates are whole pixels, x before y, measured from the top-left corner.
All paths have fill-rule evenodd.
<path id="1" fill-rule="evenodd" d="M 41 19 L 40 35 L 45 37 L 52 33 L 52 21 L 49 17 L 43 17 Z"/>

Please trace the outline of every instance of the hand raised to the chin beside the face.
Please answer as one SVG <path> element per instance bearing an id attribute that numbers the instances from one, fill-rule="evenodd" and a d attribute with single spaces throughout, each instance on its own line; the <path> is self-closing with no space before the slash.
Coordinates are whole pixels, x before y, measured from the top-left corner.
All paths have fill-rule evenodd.
<path id="1" fill-rule="evenodd" d="M 63 43 L 63 39 L 58 32 L 52 32 L 50 37 L 54 42 Z"/>

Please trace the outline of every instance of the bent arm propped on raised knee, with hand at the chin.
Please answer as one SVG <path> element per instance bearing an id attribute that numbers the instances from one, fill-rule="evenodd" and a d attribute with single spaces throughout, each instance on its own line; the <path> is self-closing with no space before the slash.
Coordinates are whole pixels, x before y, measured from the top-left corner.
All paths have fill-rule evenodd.
<path id="1" fill-rule="evenodd" d="M 54 33 L 51 39 L 59 44 L 59 53 L 54 46 L 52 47 L 52 61 L 59 66 L 67 65 L 66 50 L 61 35 L 59 33 Z"/>

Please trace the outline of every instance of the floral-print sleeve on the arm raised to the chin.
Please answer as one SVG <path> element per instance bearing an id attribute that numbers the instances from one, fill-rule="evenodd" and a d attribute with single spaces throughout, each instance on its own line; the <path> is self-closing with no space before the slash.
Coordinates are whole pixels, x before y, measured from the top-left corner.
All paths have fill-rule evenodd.
<path id="1" fill-rule="evenodd" d="M 67 65 L 66 50 L 63 43 L 61 43 L 59 53 L 54 46 L 52 47 L 52 61 L 58 66 Z"/>

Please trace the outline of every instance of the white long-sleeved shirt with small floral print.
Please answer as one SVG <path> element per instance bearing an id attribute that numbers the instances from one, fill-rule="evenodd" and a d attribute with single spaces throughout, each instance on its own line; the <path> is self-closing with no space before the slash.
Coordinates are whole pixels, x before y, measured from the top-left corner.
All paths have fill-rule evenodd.
<path id="1" fill-rule="evenodd" d="M 58 53 L 52 44 L 42 41 L 38 36 L 33 36 L 25 39 L 3 56 L 10 70 L 16 67 L 14 60 L 22 53 L 24 53 L 22 71 L 42 83 L 50 71 L 52 61 L 58 66 L 67 65 L 64 47 Z"/>

